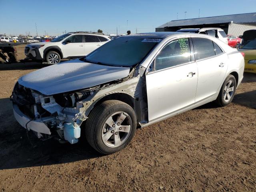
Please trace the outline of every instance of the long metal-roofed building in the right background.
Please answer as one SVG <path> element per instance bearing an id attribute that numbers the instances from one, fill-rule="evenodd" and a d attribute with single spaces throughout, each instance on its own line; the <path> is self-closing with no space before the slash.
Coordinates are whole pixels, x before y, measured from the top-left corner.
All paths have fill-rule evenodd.
<path id="1" fill-rule="evenodd" d="M 244 31 L 256 29 L 256 12 L 194 19 L 172 20 L 156 28 L 160 31 L 177 31 L 181 28 L 222 28 L 226 34 L 242 35 Z"/>

